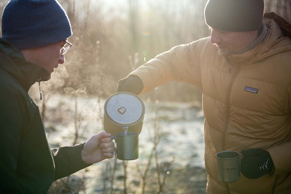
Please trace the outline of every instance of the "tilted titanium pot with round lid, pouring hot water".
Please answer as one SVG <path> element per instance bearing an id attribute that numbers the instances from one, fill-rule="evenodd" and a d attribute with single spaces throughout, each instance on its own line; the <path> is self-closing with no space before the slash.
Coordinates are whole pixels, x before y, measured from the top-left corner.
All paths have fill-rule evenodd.
<path id="1" fill-rule="evenodd" d="M 126 128 L 127 131 L 140 133 L 144 115 L 145 106 L 137 95 L 117 92 L 109 96 L 104 104 L 104 131 L 113 136 Z"/>

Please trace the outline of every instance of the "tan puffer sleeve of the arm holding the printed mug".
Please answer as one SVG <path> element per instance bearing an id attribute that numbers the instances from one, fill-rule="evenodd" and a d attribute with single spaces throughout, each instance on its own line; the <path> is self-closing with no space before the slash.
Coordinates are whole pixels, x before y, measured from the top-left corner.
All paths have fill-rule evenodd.
<path id="1" fill-rule="evenodd" d="M 287 97 L 285 103 L 285 111 L 291 114 L 291 83 L 287 90 Z M 291 123 L 289 122 L 289 131 L 284 143 L 281 145 L 267 149 L 270 153 L 272 161 L 275 166 L 275 175 L 280 175 L 286 172 L 291 172 Z"/>

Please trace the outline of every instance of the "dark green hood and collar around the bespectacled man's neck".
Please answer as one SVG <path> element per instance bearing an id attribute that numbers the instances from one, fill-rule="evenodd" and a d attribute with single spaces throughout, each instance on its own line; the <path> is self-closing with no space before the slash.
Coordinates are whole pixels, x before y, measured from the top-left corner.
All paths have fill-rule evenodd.
<path id="1" fill-rule="evenodd" d="M 41 81 L 42 76 L 49 75 L 44 68 L 26 61 L 22 53 L 3 38 L 0 38 L 0 58 L 0 69 L 15 77 L 26 91 L 36 81 Z"/>

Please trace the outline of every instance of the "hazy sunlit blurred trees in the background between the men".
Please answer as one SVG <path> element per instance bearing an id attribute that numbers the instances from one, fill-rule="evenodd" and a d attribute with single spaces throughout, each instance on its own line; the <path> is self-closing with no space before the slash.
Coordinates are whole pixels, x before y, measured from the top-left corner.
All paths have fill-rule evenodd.
<path id="1" fill-rule="evenodd" d="M 52 87 L 43 87 L 52 92 L 86 88 L 88 95 L 108 97 L 116 92 L 118 80 L 132 71 L 129 56 L 138 67 L 176 45 L 210 35 L 203 14 L 207 0 L 59 2 L 72 23 L 69 40 L 73 47 L 65 56 L 66 63 L 60 65 L 63 68 L 55 71 L 61 77 L 54 80 L 61 84 L 51 81 Z M 7 3 L 0 1 L 0 17 Z M 265 12 L 270 11 L 291 22 L 290 0 L 265 0 Z M 160 100 L 201 100 L 201 91 L 195 86 L 175 81 L 160 86 L 158 94 Z"/>

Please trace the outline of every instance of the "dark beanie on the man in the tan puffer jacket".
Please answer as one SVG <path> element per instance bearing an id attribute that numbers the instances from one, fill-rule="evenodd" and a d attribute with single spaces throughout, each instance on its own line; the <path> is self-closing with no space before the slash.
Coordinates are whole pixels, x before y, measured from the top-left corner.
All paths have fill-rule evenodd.
<path id="1" fill-rule="evenodd" d="M 255 31 L 262 26 L 264 0 L 208 0 L 204 10 L 208 26 L 223 31 Z"/>

